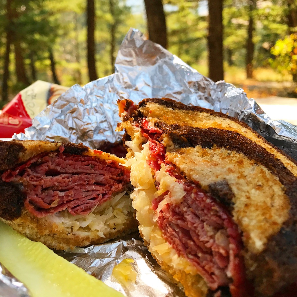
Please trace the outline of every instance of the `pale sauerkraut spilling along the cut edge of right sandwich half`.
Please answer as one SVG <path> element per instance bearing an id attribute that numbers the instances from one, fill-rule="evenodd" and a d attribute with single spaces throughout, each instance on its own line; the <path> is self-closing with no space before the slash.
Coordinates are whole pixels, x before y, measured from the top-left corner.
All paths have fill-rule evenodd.
<path id="1" fill-rule="evenodd" d="M 133 147 L 133 146 L 130 146 Z M 137 146 L 136 146 L 137 147 Z M 134 157 L 129 160 L 131 165 L 131 183 L 135 190 L 131 194 L 133 200 L 132 205 L 136 210 L 136 218 L 138 219 L 139 231 L 144 241 L 149 245 L 149 251 L 156 255 L 157 259 L 164 261 L 167 265 L 175 269 L 185 271 L 190 274 L 197 274 L 196 268 L 184 257 L 177 255 L 176 251 L 165 241 L 162 231 L 154 220 L 155 211 L 151 208 L 152 200 L 161 193 L 170 190 L 175 193 L 175 197 L 166 197 L 168 202 L 176 203 L 180 201 L 184 195 L 184 190 L 176 181 L 176 178 L 170 177 L 165 172 L 165 168 L 161 168 L 156 174 L 158 181 L 165 181 L 160 184 L 159 191 L 155 187 L 155 179 L 153 172 L 146 162 L 146 156 L 149 156 L 149 144 L 143 145 L 141 152 L 135 152 Z M 169 179 L 168 179 L 169 178 Z"/>

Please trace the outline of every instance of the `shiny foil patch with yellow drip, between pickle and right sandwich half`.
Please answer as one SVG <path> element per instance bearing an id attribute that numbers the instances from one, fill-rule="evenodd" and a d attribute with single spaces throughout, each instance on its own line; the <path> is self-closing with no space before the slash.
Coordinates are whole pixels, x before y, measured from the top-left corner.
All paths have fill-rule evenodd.
<path id="1" fill-rule="evenodd" d="M 138 233 L 105 244 L 76 248 L 71 252 L 57 252 L 69 262 L 129 297 L 186 297 L 173 278 L 165 273 L 144 247 Z M 113 268 L 124 259 L 132 259 L 131 269 L 136 281 L 120 282 Z"/>

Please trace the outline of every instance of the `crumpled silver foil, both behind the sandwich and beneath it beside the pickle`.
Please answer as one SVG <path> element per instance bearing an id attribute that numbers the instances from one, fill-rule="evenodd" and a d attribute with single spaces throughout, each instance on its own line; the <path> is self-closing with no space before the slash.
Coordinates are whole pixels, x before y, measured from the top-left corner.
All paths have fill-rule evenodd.
<path id="1" fill-rule="evenodd" d="M 168 97 L 233 116 L 297 159 L 297 126 L 272 121 L 254 99 L 247 98 L 243 89 L 204 77 L 160 45 L 146 40 L 136 29 L 130 29 L 121 44 L 114 74 L 84 87 L 72 86 L 36 116 L 31 127 L 13 138 L 81 142 L 97 149 L 105 142 L 121 141 L 123 132 L 115 132 L 120 121 L 118 99 L 138 103 L 152 97 Z M 184 296 L 139 238 L 59 255 L 129 297 Z M 124 258 L 134 259 L 132 266 L 138 272 L 137 281 L 129 290 L 111 276 L 114 265 Z"/>

